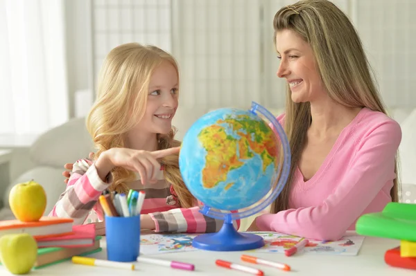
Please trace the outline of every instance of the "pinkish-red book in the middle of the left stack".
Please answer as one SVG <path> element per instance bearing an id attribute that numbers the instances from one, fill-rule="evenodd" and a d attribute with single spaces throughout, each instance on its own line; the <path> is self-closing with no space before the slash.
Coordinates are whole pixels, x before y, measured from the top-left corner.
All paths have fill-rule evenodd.
<path id="1" fill-rule="evenodd" d="M 38 248 L 45 247 L 87 247 L 94 244 L 96 229 L 94 224 L 73 226 L 73 233 L 60 237 L 44 237 L 36 239 Z"/>

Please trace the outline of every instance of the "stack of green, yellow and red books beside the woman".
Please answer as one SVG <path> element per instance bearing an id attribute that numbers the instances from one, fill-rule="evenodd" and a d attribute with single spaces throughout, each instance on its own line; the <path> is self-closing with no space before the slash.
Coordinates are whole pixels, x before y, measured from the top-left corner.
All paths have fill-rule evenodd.
<path id="1" fill-rule="evenodd" d="M 398 239 L 400 246 L 387 250 L 384 261 L 390 266 L 416 269 L 416 204 L 388 203 L 383 212 L 364 214 L 356 232 L 365 236 Z"/>

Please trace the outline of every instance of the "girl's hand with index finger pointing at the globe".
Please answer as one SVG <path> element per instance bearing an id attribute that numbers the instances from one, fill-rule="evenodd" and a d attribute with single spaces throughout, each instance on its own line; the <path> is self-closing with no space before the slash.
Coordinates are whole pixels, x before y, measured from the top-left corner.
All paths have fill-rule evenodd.
<path id="1" fill-rule="evenodd" d="M 101 179 L 105 179 L 105 176 L 114 167 L 124 167 L 130 171 L 139 172 L 141 183 L 146 185 L 157 181 L 157 172 L 160 170 L 160 164 L 157 159 L 177 154 L 179 151 L 180 147 L 158 151 L 114 147 L 101 154 L 96 162 L 96 168 Z"/>

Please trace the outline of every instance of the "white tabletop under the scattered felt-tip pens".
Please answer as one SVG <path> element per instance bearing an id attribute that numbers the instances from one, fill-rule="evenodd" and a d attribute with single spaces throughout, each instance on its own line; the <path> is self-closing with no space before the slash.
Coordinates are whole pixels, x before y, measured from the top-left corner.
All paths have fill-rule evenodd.
<path id="1" fill-rule="evenodd" d="M 89 257 L 97 259 L 105 259 L 105 239 L 101 239 L 103 251 L 98 252 Z M 211 252 L 211 251 L 193 251 L 180 253 L 167 253 L 162 255 L 151 255 L 148 257 L 184 261 L 196 266 L 195 271 L 176 270 L 164 266 L 154 266 L 151 264 L 136 264 L 136 270 L 120 270 L 114 268 L 102 268 L 98 266 L 83 266 L 72 264 L 65 261 L 39 270 L 33 270 L 31 275 L 250 275 L 237 270 L 229 270 L 216 266 L 216 259 L 225 259 L 237 264 L 253 266 L 263 270 L 265 275 L 336 275 L 336 276 L 401 276 L 416 275 L 416 270 L 407 270 L 404 268 L 392 268 L 384 262 L 384 252 L 390 248 L 399 245 L 399 241 L 391 239 L 381 239 L 374 237 L 366 237 L 360 252 L 356 256 L 329 256 L 329 255 L 293 255 L 286 257 L 283 254 L 273 253 L 256 253 L 250 254 L 263 259 L 279 261 L 291 266 L 291 272 L 285 272 L 267 266 L 252 265 L 243 263 L 239 260 L 242 252 Z M 0 275 L 11 275 L 5 268 L 0 267 Z"/>

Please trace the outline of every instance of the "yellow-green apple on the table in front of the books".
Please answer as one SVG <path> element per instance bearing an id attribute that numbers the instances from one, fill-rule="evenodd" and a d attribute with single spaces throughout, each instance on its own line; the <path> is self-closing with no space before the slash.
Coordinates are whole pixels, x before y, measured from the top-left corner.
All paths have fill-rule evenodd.
<path id="1" fill-rule="evenodd" d="M 37 243 L 28 233 L 0 238 L 0 261 L 13 274 L 27 274 L 37 259 Z"/>

